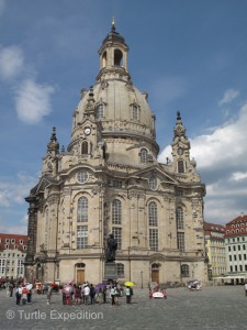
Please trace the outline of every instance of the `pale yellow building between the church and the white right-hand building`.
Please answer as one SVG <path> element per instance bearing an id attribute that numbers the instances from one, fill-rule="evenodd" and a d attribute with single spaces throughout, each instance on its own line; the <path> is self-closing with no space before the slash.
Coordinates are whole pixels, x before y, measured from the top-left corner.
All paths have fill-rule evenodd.
<path id="1" fill-rule="evenodd" d="M 225 227 L 204 222 L 209 279 L 226 274 Z"/>

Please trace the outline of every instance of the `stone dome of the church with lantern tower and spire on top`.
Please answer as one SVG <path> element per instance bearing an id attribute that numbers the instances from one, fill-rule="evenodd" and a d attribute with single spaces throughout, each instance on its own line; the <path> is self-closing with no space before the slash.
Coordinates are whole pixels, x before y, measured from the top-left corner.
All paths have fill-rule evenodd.
<path id="1" fill-rule="evenodd" d="M 133 139 L 149 145 L 153 156 L 158 154 L 155 133 L 155 114 L 147 92 L 141 92 L 132 82 L 127 70 L 127 52 L 124 37 L 112 29 L 99 50 L 100 73 L 90 90 L 82 89 L 81 100 L 74 117 L 72 140 L 80 133 L 80 123 L 87 111 L 90 92 L 94 99 L 94 114 L 102 125 L 103 139 Z"/>

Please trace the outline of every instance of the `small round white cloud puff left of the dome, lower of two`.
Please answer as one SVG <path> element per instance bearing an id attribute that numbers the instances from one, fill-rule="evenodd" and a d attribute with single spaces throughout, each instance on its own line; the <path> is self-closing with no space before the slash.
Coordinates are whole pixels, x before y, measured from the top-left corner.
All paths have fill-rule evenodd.
<path id="1" fill-rule="evenodd" d="M 24 80 L 16 90 L 16 111 L 21 121 L 27 124 L 38 123 L 52 112 L 50 95 L 55 88 L 41 85 L 32 79 Z"/>

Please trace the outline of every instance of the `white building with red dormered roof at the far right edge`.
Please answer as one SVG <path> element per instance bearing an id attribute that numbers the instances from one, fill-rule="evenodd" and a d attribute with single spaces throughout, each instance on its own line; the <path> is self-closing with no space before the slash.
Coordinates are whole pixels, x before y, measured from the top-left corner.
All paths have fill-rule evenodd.
<path id="1" fill-rule="evenodd" d="M 226 223 L 225 248 L 227 275 L 247 278 L 247 215 L 242 213 Z"/>

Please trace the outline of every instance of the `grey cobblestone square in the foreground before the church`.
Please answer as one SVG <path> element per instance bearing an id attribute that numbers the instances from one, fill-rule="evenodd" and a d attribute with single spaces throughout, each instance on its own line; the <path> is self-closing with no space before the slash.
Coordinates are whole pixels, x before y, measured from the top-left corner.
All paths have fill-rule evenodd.
<path id="1" fill-rule="evenodd" d="M 61 295 L 33 294 L 32 304 L 15 305 L 0 292 L 0 329 L 247 329 L 247 297 L 243 286 L 204 287 L 199 292 L 168 288 L 167 299 L 149 299 L 148 289 L 135 289 L 133 304 L 64 306 Z"/>

